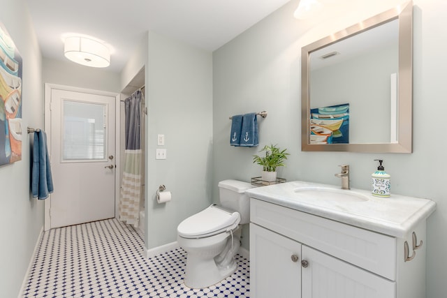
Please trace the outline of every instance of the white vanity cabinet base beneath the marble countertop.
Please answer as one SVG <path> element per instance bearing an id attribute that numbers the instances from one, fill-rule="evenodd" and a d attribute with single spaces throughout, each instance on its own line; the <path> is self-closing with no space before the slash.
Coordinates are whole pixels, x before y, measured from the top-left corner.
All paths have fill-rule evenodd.
<path id="1" fill-rule="evenodd" d="M 425 218 L 395 237 L 250 200 L 251 298 L 425 297 Z"/>

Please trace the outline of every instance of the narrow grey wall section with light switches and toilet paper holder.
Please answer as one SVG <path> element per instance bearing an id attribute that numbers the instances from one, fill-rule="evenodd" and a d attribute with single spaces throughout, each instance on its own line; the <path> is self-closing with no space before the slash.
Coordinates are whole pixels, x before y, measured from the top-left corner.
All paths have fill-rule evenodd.
<path id="1" fill-rule="evenodd" d="M 212 53 L 149 32 L 146 103 L 145 244 L 154 248 L 176 241 L 177 225 L 211 202 Z M 166 160 L 155 160 L 156 148 Z M 171 202 L 156 203 L 160 184 Z"/>

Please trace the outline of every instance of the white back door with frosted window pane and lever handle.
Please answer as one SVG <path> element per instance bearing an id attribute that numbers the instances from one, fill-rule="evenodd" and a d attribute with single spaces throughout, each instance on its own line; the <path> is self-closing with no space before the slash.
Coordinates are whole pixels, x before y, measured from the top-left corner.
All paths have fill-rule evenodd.
<path id="1" fill-rule="evenodd" d="M 50 96 L 49 228 L 115 217 L 116 98 L 62 89 Z"/>

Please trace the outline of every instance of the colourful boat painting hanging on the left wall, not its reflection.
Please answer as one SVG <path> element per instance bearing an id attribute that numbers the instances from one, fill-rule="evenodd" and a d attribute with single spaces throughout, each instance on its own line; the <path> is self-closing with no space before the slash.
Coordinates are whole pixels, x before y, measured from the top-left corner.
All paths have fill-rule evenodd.
<path id="1" fill-rule="evenodd" d="M 22 57 L 0 22 L 0 165 L 22 160 Z"/>

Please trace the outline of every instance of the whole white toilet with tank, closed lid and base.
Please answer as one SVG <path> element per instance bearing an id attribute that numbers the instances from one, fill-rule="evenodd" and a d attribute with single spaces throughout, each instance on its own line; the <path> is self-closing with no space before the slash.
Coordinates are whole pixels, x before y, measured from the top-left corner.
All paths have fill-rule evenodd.
<path id="1" fill-rule="evenodd" d="M 237 269 L 241 225 L 250 221 L 247 182 L 219 182 L 220 206 L 212 204 L 189 216 L 177 227 L 177 242 L 186 251 L 184 283 L 189 288 L 207 288 Z"/>

